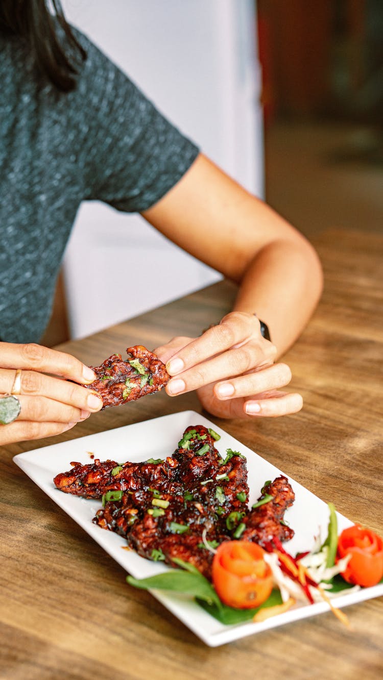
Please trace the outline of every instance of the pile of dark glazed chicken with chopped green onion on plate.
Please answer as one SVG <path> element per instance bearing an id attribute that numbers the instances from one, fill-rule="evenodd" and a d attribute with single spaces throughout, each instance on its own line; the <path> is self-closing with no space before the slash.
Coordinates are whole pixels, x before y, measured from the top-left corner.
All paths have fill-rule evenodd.
<path id="1" fill-rule="evenodd" d="M 102 498 L 93 522 L 123 536 L 142 557 L 171 566 L 184 560 L 210 578 L 212 549 L 222 541 L 241 538 L 267 549 L 273 537 L 294 535 L 283 521 L 294 501 L 286 477 L 267 482 L 249 510 L 246 458 L 227 449 L 223 459 L 216 437 L 202 425 L 189 426 L 163 460 L 73 462 L 54 483 L 66 493 Z"/>

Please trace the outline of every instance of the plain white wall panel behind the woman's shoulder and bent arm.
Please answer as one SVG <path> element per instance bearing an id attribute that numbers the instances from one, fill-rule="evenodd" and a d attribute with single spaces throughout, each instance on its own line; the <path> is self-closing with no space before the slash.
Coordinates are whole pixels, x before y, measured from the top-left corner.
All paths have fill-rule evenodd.
<path id="1" fill-rule="evenodd" d="M 64 0 L 63 7 L 67 18 L 207 156 L 263 195 L 253 0 Z M 90 260 L 94 265 L 86 267 L 86 280 L 84 252 L 88 265 Z M 160 271 L 159 252 L 166 262 Z M 129 262 L 128 279 L 113 267 L 116 254 Z M 112 295 L 105 286 L 93 296 L 79 294 L 100 288 L 99 267 L 105 273 L 107 262 Z M 138 280 L 137 289 L 124 294 L 129 279 Z M 84 203 L 65 256 L 72 337 L 131 318 L 217 279 L 216 272 L 169 243 L 140 216 Z"/>

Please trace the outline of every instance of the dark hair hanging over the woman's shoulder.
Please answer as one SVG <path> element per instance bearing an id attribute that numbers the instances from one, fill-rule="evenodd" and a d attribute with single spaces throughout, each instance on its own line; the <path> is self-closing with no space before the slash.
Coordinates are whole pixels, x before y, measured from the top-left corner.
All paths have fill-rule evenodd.
<path id="1" fill-rule="evenodd" d="M 0 0 L 0 31 L 26 39 L 37 67 L 59 90 L 76 87 L 76 65 L 86 59 L 86 52 L 71 31 L 60 0 Z"/>

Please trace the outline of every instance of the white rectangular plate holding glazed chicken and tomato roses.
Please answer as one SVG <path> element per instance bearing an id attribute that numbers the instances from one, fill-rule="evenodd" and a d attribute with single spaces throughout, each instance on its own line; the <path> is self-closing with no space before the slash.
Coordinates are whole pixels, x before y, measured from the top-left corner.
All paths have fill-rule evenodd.
<path id="1" fill-rule="evenodd" d="M 35 449 L 25 454 L 14 457 L 14 462 L 39 486 L 57 505 L 59 505 L 73 520 L 93 538 L 118 564 L 126 569 L 135 578 L 153 576 L 167 569 L 163 564 L 150 562 L 139 557 L 135 552 L 123 550 L 126 541 L 110 531 L 105 531 L 92 523 L 92 517 L 101 501 L 85 500 L 77 496 L 64 494 L 55 488 L 53 477 L 59 472 L 69 470 L 71 461 L 76 460 L 83 464 L 90 463 L 90 454 L 100 460 L 110 458 L 118 462 L 126 460 L 139 461 L 147 458 L 165 458 L 176 449 L 182 432 L 188 425 L 205 425 L 212 427 L 221 439 L 217 442 L 220 454 L 225 456 L 225 451 L 231 448 L 239 451 L 247 458 L 248 483 L 250 487 L 250 504 L 259 497 L 261 488 L 267 479 L 274 479 L 282 473 L 267 460 L 261 458 L 248 447 L 234 439 L 227 432 L 218 428 L 214 423 L 203 418 L 195 411 L 183 411 L 164 415 L 162 418 L 154 418 L 146 422 L 127 425 L 107 432 L 99 432 L 95 435 L 73 439 Z M 283 473 L 282 473 L 283 474 Z M 295 530 L 295 537 L 287 544 L 290 554 L 295 555 L 298 551 L 310 550 L 314 545 L 314 538 L 321 535 L 322 539 L 327 535 L 329 522 L 329 510 L 320 498 L 314 496 L 301 484 L 290 479 L 295 491 L 295 503 L 286 512 L 286 520 Z M 343 515 L 337 513 L 339 532 L 352 522 Z M 127 585 L 127 588 L 129 586 Z M 216 647 L 231 642 L 238 638 L 254 633 L 276 628 L 297 619 L 320 614 L 329 610 L 325 602 L 314 605 L 297 604 L 284 614 L 267 619 L 262 623 L 244 623 L 235 626 L 224 626 L 214 617 L 207 614 L 196 602 L 181 594 L 160 592 L 153 590 L 152 594 L 160 602 L 176 615 L 190 630 L 203 640 L 207 645 Z M 346 594 L 336 598 L 337 607 L 346 607 L 355 602 L 361 602 L 369 598 L 383 595 L 383 584 L 373 588 L 363 588 L 358 592 Z M 340 625 L 340 624 L 339 624 Z"/>

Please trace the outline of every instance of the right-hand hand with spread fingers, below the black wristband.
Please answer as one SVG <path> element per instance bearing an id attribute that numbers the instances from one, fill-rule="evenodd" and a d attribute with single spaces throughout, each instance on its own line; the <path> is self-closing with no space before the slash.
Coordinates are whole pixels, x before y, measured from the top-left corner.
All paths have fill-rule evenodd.
<path id="1" fill-rule="evenodd" d="M 176 337 L 154 352 L 174 376 L 167 394 L 197 390 L 203 407 L 218 418 L 275 417 L 303 405 L 300 394 L 280 390 L 291 371 L 273 363 L 276 347 L 262 337 L 250 313 L 233 311 L 201 337 Z"/>

